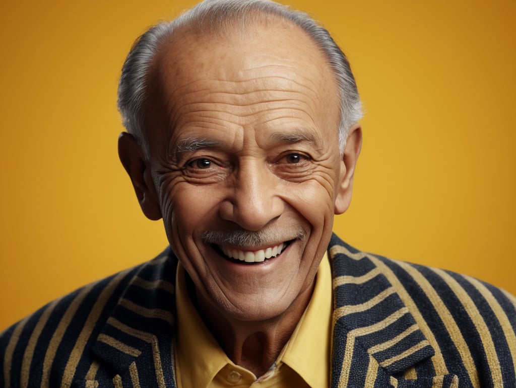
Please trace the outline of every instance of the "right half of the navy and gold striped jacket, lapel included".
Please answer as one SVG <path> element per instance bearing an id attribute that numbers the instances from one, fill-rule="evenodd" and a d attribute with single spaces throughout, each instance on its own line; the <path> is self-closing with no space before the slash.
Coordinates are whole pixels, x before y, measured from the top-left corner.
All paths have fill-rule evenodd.
<path id="1" fill-rule="evenodd" d="M 332 386 L 516 386 L 514 298 L 333 237 Z"/>

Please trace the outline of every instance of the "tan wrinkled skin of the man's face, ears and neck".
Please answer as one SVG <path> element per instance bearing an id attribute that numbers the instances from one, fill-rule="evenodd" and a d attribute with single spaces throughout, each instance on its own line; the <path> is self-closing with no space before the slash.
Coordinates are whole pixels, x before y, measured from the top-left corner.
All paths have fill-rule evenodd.
<path id="1" fill-rule="evenodd" d="M 120 159 L 143 212 L 163 217 L 206 326 L 236 364 L 261 376 L 310 301 L 333 215 L 349 206 L 360 127 L 341 155 L 327 62 L 282 21 L 216 38 L 179 30 L 148 82 L 150 158 L 125 133 Z M 217 246 L 203 241 L 207 231 L 256 238 Z M 220 250 L 281 243 L 281 255 L 253 264 Z"/>

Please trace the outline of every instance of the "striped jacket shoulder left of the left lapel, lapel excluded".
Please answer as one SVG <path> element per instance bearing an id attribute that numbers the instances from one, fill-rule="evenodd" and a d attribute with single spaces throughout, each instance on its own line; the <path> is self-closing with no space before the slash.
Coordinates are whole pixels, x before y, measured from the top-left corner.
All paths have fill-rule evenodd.
<path id="1" fill-rule="evenodd" d="M 54 378 L 61 379 L 67 368 L 75 373 L 77 367 L 90 366 L 79 360 L 128 285 L 154 281 L 169 254 L 166 250 L 150 262 L 83 286 L 0 333 L 0 382 L 13 387 L 35 381 L 48 385 Z"/>

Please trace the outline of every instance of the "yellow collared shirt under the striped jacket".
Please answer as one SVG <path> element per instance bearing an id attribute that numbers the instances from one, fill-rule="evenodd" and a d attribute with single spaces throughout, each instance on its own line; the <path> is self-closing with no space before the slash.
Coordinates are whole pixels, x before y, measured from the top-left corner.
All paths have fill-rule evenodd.
<path id="1" fill-rule="evenodd" d="M 329 386 L 332 289 L 327 254 L 319 265 L 310 303 L 290 340 L 275 365 L 258 379 L 248 369 L 235 365 L 206 328 L 188 296 L 181 264 L 175 284 L 178 388 Z"/>

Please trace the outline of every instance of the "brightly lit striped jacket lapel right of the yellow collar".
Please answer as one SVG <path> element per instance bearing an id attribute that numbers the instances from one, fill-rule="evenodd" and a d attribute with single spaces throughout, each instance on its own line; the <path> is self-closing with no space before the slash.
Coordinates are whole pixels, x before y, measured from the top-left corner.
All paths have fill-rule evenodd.
<path id="1" fill-rule="evenodd" d="M 374 362 L 386 376 L 393 376 L 434 355 L 414 317 L 367 254 L 333 235 L 329 257 L 334 297 L 332 386 L 348 386 L 350 379 L 373 373 Z"/>

